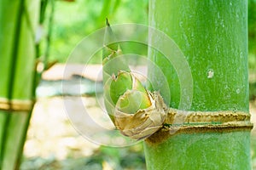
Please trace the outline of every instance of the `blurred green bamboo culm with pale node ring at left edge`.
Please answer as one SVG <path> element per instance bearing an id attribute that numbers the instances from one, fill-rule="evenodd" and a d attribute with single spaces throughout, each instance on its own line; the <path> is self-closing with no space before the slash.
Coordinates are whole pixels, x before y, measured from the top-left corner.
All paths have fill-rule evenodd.
<path id="1" fill-rule="evenodd" d="M 19 169 L 34 99 L 39 1 L 1 0 L 0 169 Z"/>

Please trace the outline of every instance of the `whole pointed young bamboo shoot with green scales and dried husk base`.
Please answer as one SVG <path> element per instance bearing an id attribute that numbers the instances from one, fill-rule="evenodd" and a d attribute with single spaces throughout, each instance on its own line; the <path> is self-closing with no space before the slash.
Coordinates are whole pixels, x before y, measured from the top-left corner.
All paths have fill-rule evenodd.
<path id="1" fill-rule="evenodd" d="M 162 127 L 166 105 L 160 94 L 148 92 L 119 58 L 119 45 L 109 43 L 114 37 L 108 20 L 107 25 L 102 57 L 105 106 L 121 133 L 145 139 Z"/>

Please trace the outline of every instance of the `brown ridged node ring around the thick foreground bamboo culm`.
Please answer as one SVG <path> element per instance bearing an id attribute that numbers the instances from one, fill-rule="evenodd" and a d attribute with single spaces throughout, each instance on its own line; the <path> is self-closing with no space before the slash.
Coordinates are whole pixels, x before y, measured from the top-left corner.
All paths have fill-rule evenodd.
<path id="1" fill-rule="evenodd" d="M 179 111 L 169 108 L 159 131 L 146 142 L 159 144 L 179 133 L 229 133 L 250 131 L 250 114 L 243 111 Z"/>

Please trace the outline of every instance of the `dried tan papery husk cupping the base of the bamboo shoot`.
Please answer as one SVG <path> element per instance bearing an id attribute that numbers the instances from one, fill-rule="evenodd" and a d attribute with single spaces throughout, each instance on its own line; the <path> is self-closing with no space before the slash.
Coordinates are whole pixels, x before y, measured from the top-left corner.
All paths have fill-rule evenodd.
<path id="1" fill-rule="evenodd" d="M 166 119 L 167 107 L 159 92 L 148 92 L 152 105 L 134 114 L 114 111 L 114 123 L 122 134 L 131 139 L 146 139 L 158 131 Z"/>

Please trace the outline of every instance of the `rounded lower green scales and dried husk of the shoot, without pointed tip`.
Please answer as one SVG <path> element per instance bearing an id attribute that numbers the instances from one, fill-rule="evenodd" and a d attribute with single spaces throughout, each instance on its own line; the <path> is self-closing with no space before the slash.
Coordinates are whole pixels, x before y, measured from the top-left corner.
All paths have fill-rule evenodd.
<path id="1" fill-rule="evenodd" d="M 115 103 L 114 123 L 131 139 L 145 139 L 162 127 L 166 105 L 159 93 L 151 94 L 131 72 L 119 71 L 110 85 Z"/>

